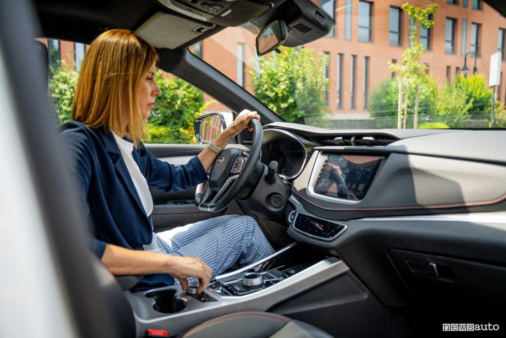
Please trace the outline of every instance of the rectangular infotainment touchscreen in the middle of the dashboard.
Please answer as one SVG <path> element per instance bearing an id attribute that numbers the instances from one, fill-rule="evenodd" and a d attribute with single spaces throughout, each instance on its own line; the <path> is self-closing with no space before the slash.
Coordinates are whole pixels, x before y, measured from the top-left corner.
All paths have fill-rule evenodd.
<path id="1" fill-rule="evenodd" d="M 316 194 L 359 201 L 364 198 L 382 156 L 328 154 L 314 185 Z"/>

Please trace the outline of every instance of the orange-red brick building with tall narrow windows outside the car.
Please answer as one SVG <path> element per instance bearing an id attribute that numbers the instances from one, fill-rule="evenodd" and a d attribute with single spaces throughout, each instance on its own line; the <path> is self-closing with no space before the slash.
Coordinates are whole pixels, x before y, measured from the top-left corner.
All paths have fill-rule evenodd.
<path id="1" fill-rule="evenodd" d="M 409 18 L 400 10 L 406 0 L 313 0 L 334 18 L 335 27 L 327 37 L 306 44 L 319 53 L 327 53 L 330 79 L 328 106 L 334 119 L 368 117 L 367 99 L 371 88 L 392 77 L 388 62 L 401 62 L 408 47 Z M 453 82 L 468 52 L 476 52 L 478 72 L 489 76 L 490 55 L 504 51 L 506 18 L 481 0 L 411 0 L 415 6 L 437 3 L 435 26 L 422 30 L 420 43 L 427 48 L 420 62 L 428 66 L 439 83 Z M 194 46 L 195 54 L 216 67 L 239 85 L 252 91 L 248 69 L 255 69 L 255 32 L 243 27 L 228 28 Z M 54 43 L 56 48 L 56 44 Z M 51 43 L 50 43 L 51 45 Z M 63 60 L 77 62 L 82 45 L 59 43 Z M 51 46 L 50 46 L 51 51 Z M 503 53 L 504 54 L 504 53 Z M 503 56 L 504 60 L 504 56 Z M 473 70 L 475 59 L 468 55 Z M 501 65 L 501 83 L 506 65 Z M 506 86 L 497 96 L 504 101 Z M 205 101 L 210 100 L 208 96 Z M 214 103 L 208 110 L 228 110 Z"/>

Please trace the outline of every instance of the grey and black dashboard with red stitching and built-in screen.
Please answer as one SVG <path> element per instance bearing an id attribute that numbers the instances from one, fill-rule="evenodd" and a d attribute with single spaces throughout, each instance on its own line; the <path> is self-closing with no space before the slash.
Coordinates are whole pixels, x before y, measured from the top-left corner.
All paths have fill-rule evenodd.
<path id="1" fill-rule="evenodd" d="M 288 235 L 341 257 L 382 304 L 506 302 L 506 131 L 274 123 L 264 135 L 262 162 L 290 185 Z M 478 270 L 491 277 L 475 282 Z"/>

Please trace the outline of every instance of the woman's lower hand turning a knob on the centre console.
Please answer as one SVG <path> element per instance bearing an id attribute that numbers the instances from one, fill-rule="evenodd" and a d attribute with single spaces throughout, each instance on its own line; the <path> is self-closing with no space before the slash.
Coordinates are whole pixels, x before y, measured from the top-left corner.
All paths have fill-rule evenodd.
<path id="1" fill-rule="evenodd" d="M 183 291 L 188 288 L 187 278 L 196 277 L 199 282 L 198 293 L 205 290 L 211 279 L 213 270 L 198 257 L 169 256 L 171 259 L 170 271 L 168 274 L 177 278 L 181 283 Z"/>

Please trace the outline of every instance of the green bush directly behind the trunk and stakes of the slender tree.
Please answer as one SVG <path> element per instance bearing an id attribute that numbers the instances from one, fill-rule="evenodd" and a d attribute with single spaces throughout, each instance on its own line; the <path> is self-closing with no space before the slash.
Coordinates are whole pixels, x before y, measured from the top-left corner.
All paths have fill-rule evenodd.
<path id="1" fill-rule="evenodd" d="M 369 112 L 376 120 L 377 128 L 397 128 L 397 103 L 399 98 L 398 78 L 380 83 L 369 92 Z M 418 120 L 428 119 L 435 109 L 437 83 L 430 76 L 424 76 L 419 82 Z M 408 94 L 407 126 L 413 125 L 415 91 Z"/>

